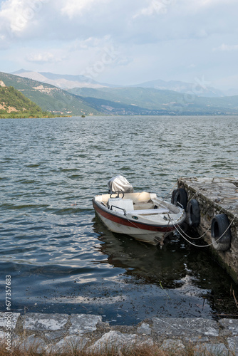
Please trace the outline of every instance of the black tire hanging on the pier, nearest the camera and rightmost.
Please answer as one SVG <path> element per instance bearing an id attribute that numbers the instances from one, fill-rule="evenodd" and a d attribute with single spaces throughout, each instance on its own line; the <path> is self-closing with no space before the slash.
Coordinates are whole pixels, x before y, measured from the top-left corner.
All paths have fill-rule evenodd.
<path id="1" fill-rule="evenodd" d="M 227 251 L 232 239 L 226 214 L 215 215 L 211 225 L 212 244 L 217 251 Z M 220 239 L 219 237 L 222 236 Z"/>

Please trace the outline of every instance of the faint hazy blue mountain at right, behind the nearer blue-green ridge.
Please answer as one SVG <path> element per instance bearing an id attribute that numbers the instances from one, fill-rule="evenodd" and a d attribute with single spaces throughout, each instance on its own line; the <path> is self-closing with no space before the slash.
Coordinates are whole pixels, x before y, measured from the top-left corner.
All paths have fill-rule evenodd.
<path id="1" fill-rule="evenodd" d="M 203 86 L 202 83 L 185 83 L 180 82 L 178 80 L 152 80 L 150 82 L 145 82 L 137 85 L 132 85 L 133 87 L 140 87 L 140 88 L 154 88 L 159 90 L 173 90 L 178 93 L 187 93 L 187 94 L 195 94 L 197 96 L 203 97 L 222 97 L 224 93 L 221 90 Z"/>

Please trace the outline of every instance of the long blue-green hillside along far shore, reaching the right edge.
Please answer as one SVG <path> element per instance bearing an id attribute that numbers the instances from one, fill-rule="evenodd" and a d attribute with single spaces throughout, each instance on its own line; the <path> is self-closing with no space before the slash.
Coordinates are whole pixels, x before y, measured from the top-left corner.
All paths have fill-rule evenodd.
<path id="1" fill-rule="evenodd" d="M 124 105 L 133 111 L 143 110 L 143 113 L 158 115 L 236 115 L 238 113 L 238 96 L 224 98 L 204 98 L 196 95 L 177 93 L 172 90 L 157 90 L 154 88 L 73 88 L 68 90 L 81 95 L 90 105 L 99 101 L 110 100 L 114 107 Z M 94 100 L 93 100 L 94 99 Z M 103 102 L 102 104 L 103 105 Z M 113 105 L 110 106 L 110 111 Z M 100 106 L 98 105 L 98 110 Z M 105 110 L 102 108 L 103 112 Z M 136 112 L 138 113 L 138 112 Z"/>

